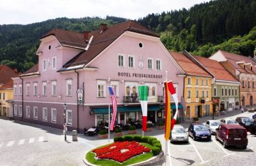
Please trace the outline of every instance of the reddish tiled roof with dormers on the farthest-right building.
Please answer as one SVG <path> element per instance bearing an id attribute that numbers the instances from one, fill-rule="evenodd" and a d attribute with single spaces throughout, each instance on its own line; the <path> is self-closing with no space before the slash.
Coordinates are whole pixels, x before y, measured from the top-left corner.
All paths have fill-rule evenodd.
<path id="1" fill-rule="evenodd" d="M 239 72 L 256 74 L 256 68 L 255 68 L 256 63 L 250 57 L 240 56 L 240 55 L 230 53 L 230 52 L 226 52 L 226 51 L 223 51 L 223 50 L 219 50 L 219 51 L 223 54 L 223 56 L 226 57 L 228 62 L 230 64 L 232 64 L 232 66 L 234 66 L 234 68 L 239 70 Z M 237 62 L 239 62 L 239 61 L 244 61 L 245 63 L 252 63 L 252 70 L 251 70 L 250 66 L 246 66 L 246 68 L 244 70 L 243 67 L 241 67 L 241 66 L 239 66 L 239 64 L 237 64 Z"/>

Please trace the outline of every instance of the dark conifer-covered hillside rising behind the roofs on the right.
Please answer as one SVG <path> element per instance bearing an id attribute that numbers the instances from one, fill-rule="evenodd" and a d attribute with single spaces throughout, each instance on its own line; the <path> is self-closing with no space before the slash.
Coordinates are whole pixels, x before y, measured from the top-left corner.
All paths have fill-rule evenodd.
<path id="1" fill-rule="evenodd" d="M 212 47 L 233 36 L 243 36 L 256 26 L 256 0 L 210 1 L 196 4 L 189 10 L 152 13 L 138 22 L 161 33 L 161 40 L 168 49 L 186 49 L 209 56 L 200 51 L 202 45 Z M 252 56 L 252 51 L 236 51 Z"/>

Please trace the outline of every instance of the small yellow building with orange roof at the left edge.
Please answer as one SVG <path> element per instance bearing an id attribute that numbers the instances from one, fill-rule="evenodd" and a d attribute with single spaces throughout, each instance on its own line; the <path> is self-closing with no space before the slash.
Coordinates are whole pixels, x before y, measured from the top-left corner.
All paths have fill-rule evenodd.
<path id="1" fill-rule="evenodd" d="M 0 116 L 13 117 L 13 80 L 0 87 Z"/>

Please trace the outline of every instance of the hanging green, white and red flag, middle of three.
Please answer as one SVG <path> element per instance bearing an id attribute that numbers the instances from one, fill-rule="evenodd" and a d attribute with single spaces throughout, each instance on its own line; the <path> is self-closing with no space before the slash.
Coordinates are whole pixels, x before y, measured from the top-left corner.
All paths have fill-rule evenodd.
<path id="1" fill-rule="evenodd" d="M 147 116 L 148 116 L 148 86 L 138 86 L 140 104 L 142 110 L 142 130 L 147 132 Z"/>

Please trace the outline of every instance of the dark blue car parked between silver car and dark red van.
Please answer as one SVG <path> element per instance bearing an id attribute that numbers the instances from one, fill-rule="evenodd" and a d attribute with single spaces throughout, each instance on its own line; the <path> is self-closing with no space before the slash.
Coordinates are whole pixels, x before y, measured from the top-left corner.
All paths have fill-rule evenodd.
<path id="1" fill-rule="evenodd" d="M 202 123 L 192 123 L 189 125 L 188 133 L 193 140 L 211 140 L 211 130 Z"/>

